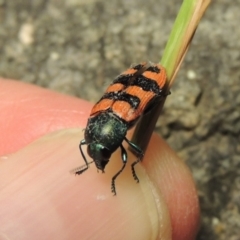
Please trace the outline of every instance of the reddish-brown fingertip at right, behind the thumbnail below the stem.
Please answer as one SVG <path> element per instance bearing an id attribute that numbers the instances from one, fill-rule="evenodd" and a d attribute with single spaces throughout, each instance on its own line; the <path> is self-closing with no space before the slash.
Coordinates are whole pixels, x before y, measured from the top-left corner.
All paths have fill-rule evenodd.
<path id="1" fill-rule="evenodd" d="M 153 134 L 143 165 L 168 205 L 173 239 L 195 239 L 200 209 L 189 168 L 156 134 Z"/>

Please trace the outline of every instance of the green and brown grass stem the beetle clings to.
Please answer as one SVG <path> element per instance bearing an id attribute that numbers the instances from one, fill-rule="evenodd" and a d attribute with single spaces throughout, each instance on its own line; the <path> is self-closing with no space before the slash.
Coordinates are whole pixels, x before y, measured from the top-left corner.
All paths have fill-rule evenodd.
<path id="1" fill-rule="evenodd" d="M 168 77 L 166 87 L 163 89 L 163 98 L 149 114 L 141 118 L 132 137 L 132 142 L 144 152 L 161 114 L 169 89 L 210 1 L 184 0 L 182 3 L 161 60 L 161 65 L 165 67 Z"/>

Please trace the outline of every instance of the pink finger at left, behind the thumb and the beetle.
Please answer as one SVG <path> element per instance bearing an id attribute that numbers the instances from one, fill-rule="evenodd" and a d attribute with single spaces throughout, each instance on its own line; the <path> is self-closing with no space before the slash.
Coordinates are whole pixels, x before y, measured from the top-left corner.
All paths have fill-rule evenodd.
<path id="1" fill-rule="evenodd" d="M 44 134 L 84 127 L 92 104 L 31 84 L 0 79 L 0 155 L 21 149 Z"/>

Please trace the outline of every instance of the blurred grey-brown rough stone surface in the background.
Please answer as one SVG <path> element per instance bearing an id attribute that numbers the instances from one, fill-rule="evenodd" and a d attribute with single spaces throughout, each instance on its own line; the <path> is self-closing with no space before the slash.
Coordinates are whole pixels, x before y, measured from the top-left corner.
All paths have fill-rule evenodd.
<path id="1" fill-rule="evenodd" d="M 0 0 L 0 76 L 95 102 L 132 63 L 159 61 L 180 4 Z M 196 180 L 198 240 L 240 239 L 239 7 L 210 5 L 157 124 Z"/>

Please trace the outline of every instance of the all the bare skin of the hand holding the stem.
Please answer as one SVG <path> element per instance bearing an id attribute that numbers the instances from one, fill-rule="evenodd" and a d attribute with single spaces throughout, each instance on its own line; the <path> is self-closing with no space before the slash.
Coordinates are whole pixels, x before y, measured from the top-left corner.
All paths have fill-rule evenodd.
<path id="1" fill-rule="evenodd" d="M 140 183 L 127 164 L 112 196 L 120 151 L 105 174 L 94 164 L 70 174 L 84 164 L 78 144 L 92 104 L 12 80 L 0 79 L 0 89 L 0 239 L 195 238 L 191 173 L 159 136 L 136 167 Z"/>

